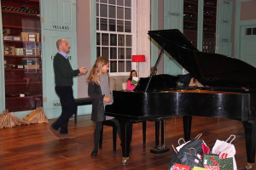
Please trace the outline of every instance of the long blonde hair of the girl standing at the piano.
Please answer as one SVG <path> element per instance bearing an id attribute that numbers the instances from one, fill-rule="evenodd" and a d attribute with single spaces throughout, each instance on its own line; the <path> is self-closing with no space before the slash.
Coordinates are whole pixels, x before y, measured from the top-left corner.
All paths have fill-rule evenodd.
<path id="1" fill-rule="evenodd" d="M 100 74 L 102 73 L 102 66 L 108 65 L 109 61 L 105 57 L 98 57 L 90 70 L 89 77 L 86 78 L 86 82 L 94 82 L 98 85 L 100 85 Z"/>

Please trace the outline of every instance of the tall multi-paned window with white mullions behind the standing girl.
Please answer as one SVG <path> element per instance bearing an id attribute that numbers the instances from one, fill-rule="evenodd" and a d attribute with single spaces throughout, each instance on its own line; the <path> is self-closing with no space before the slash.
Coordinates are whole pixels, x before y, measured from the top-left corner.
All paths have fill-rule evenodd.
<path id="1" fill-rule="evenodd" d="M 96 0 L 96 54 L 109 59 L 110 73 L 131 71 L 131 11 L 131 0 Z"/>

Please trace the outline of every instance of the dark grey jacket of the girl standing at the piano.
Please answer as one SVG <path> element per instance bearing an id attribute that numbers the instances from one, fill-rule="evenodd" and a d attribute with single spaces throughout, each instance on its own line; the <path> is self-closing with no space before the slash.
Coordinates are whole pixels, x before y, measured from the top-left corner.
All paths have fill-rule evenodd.
<path id="1" fill-rule="evenodd" d="M 106 120 L 105 109 L 103 105 L 102 89 L 100 85 L 89 82 L 88 95 L 92 98 L 91 121 L 103 122 Z"/>

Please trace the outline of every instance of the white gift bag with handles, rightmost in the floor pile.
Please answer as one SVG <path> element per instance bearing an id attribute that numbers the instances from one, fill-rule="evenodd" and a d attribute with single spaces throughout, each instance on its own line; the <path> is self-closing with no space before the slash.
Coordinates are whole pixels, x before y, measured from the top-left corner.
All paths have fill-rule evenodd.
<path id="1" fill-rule="evenodd" d="M 236 136 L 234 134 L 230 135 L 230 137 L 225 141 L 217 139 L 212 148 L 212 154 L 217 154 L 219 156 L 219 159 L 226 159 L 232 157 L 234 170 L 237 170 L 235 159 L 236 149 L 234 144 L 231 144 L 234 139 L 236 139 Z"/>

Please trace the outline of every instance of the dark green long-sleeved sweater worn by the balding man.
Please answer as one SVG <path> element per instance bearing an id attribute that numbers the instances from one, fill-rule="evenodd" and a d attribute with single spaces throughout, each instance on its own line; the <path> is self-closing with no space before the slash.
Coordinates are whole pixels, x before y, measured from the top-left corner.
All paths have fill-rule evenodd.
<path id="1" fill-rule="evenodd" d="M 55 54 L 53 65 L 55 71 L 55 86 L 73 86 L 73 77 L 79 75 L 79 69 L 73 70 L 69 60 L 59 53 Z"/>

